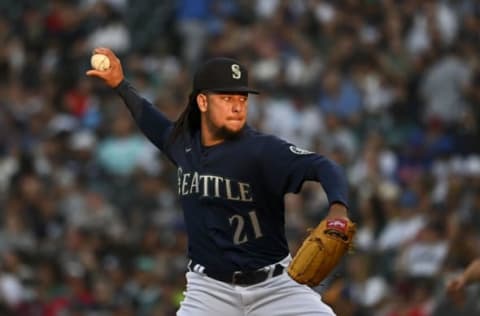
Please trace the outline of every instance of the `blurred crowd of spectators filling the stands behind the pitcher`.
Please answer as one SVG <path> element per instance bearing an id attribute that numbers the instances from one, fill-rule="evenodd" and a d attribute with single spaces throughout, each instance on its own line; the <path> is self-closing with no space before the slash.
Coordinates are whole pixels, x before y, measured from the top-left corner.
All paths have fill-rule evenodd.
<path id="1" fill-rule="evenodd" d="M 339 316 L 480 315 L 445 282 L 480 255 L 475 0 L 0 1 L 0 315 L 174 315 L 186 235 L 176 171 L 113 91 L 112 48 L 175 119 L 195 67 L 238 58 L 250 124 L 340 163 L 355 249 L 316 288 Z M 295 251 L 326 214 L 286 198 Z"/>

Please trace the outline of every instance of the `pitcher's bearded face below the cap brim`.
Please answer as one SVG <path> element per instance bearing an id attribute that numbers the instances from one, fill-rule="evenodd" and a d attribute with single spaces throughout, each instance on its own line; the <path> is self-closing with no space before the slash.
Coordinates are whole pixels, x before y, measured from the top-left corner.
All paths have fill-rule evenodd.
<path id="1" fill-rule="evenodd" d="M 228 137 L 242 130 L 247 120 L 247 93 L 208 93 L 205 97 L 203 112 L 212 132 Z"/>

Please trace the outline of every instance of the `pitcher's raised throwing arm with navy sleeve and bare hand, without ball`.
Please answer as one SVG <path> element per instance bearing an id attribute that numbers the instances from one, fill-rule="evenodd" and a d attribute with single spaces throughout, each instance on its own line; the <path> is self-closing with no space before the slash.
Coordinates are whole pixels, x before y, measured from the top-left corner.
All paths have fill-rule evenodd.
<path id="1" fill-rule="evenodd" d="M 132 113 L 135 122 L 145 136 L 161 150 L 165 149 L 166 134 L 173 123 L 148 100 L 142 98 L 135 88 L 125 80 L 120 59 L 108 48 L 95 48 L 94 54 L 103 54 L 110 60 L 107 70 L 91 69 L 87 76 L 102 79 L 107 86 L 119 94 Z"/>

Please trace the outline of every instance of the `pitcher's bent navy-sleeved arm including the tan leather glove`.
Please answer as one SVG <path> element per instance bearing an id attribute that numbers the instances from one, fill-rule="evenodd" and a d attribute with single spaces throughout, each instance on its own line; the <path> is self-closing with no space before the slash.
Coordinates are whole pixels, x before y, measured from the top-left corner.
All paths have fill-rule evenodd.
<path id="1" fill-rule="evenodd" d="M 264 168 L 272 168 L 269 170 L 274 173 L 269 185 L 276 184 L 279 194 L 298 193 L 303 182 L 313 180 L 321 183 L 327 195 L 327 217 L 311 230 L 288 267 L 288 274 L 297 282 L 317 286 L 351 248 L 355 234 L 355 224 L 347 215 L 345 174 L 330 159 L 275 138 L 265 146 L 263 153 L 270 161 L 269 167 L 264 165 Z"/>

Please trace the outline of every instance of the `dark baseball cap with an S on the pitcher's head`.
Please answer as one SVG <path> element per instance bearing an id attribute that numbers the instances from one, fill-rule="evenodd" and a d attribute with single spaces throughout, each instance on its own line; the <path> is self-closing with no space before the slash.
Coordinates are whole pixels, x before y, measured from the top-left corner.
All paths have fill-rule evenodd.
<path id="1" fill-rule="evenodd" d="M 217 57 L 208 60 L 193 76 L 194 91 L 259 92 L 248 86 L 248 71 L 237 60 Z"/>

